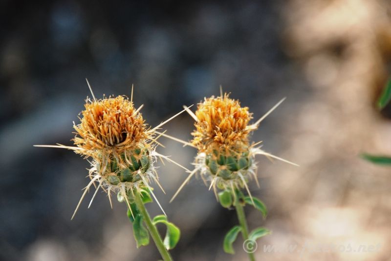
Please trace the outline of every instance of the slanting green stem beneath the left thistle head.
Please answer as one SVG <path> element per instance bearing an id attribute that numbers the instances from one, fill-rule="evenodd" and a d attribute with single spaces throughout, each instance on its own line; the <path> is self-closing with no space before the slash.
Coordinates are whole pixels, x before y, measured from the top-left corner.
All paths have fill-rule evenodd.
<path id="1" fill-rule="evenodd" d="M 173 261 L 173 258 L 171 257 L 170 253 L 166 249 L 166 247 L 163 244 L 163 241 L 160 237 L 159 232 L 157 231 L 156 227 L 152 223 L 151 217 L 147 212 L 147 209 L 144 206 L 144 203 L 139 195 L 139 193 L 134 193 L 134 201 L 136 202 L 137 208 L 140 211 L 141 216 L 143 217 L 143 221 L 147 225 L 147 228 L 151 234 L 151 237 L 153 241 L 155 242 L 155 245 L 157 249 L 160 252 L 160 255 L 162 256 L 164 261 Z"/>

